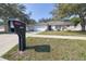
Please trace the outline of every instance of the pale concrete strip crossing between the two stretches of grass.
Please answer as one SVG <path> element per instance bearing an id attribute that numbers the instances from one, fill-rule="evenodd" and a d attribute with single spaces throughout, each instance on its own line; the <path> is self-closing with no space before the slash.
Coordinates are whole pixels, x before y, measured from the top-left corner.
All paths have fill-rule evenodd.
<path id="1" fill-rule="evenodd" d="M 86 40 L 86 37 L 78 37 L 78 36 L 51 36 L 51 35 L 29 35 L 29 34 L 27 34 L 27 37 Z"/>

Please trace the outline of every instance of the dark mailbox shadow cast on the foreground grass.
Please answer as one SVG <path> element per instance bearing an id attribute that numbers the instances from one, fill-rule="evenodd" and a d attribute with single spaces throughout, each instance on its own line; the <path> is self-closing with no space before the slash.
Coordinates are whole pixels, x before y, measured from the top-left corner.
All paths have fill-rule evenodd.
<path id="1" fill-rule="evenodd" d="M 27 47 L 26 49 L 35 49 L 36 52 L 50 52 L 50 46 L 48 44 L 32 46 L 32 47 Z"/>

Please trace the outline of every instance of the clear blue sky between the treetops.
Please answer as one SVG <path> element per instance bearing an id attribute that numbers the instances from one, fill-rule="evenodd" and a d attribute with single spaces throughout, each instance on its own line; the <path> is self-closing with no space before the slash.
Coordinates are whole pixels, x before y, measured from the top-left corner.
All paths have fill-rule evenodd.
<path id="1" fill-rule="evenodd" d="M 26 12 L 32 12 L 30 18 L 38 21 L 39 18 L 52 17 L 50 12 L 53 10 L 52 3 L 27 3 Z"/>

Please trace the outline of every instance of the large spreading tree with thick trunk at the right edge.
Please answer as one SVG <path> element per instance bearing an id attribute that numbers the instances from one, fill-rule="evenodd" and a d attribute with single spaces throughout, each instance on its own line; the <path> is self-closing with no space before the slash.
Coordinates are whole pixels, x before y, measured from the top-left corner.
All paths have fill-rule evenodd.
<path id="1" fill-rule="evenodd" d="M 82 30 L 85 31 L 86 3 L 64 3 L 56 5 L 54 14 L 58 18 L 63 18 L 72 15 L 78 15 Z"/>

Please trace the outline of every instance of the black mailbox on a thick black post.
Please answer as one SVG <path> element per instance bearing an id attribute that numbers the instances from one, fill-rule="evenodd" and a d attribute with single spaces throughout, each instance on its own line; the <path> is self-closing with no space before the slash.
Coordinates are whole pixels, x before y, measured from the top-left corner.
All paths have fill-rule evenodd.
<path id="1" fill-rule="evenodd" d="M 26 33 L 26 24 L 20 21 L 13 21 L 14 31 L 19 36 L 19 50 L 24 51 L 26 49 L 26 40 L 25 40 L 25 33 Z"/>

